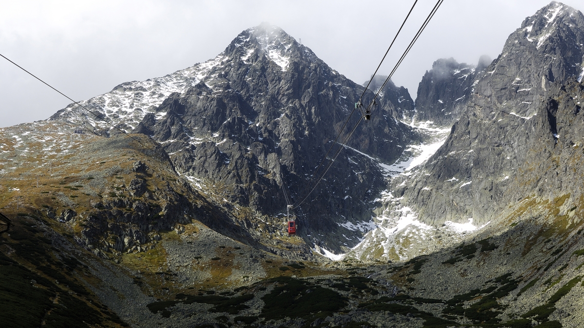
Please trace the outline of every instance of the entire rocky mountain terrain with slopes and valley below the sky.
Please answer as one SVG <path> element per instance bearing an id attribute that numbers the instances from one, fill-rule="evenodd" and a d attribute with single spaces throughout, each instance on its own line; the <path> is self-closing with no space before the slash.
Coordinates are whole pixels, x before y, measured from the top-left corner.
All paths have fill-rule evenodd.
<path id="1" fill-rule="evenodd" d="M 387 76 L 365 90 L 262 23 L 1 128 L 5 323 L 584 326 L 582 44 L 552 1 L 360 121 Z"/>

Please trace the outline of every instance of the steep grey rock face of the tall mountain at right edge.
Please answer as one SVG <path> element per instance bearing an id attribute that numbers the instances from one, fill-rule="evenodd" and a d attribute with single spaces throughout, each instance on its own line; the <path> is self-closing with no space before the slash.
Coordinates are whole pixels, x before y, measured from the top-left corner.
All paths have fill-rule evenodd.
<path id="1" fill-rule="evenodd" d="M 526 18 L 479 77 L 444 145 L 417 175 L 394 182 L 404 203 L 428 224 L 482 225 L 531 193 L 579 190 L 581 180 L 564 177 L 575 163 L 562 154 L 584 137 L 582 43 L 584 16 L 575 9 L 552 2 Z M 559 96 L 562 89 L 575 98 Z"/>

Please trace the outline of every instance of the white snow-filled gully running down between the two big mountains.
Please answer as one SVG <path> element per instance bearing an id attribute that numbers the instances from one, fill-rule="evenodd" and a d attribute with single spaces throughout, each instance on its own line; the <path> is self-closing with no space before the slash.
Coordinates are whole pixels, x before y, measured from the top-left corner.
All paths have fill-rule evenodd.
<path id="1" fill-rule="evenodd" d="M 397 176 L 409 176 L 413 174 L 415 168 L 426 162 L 436 151 L 444 144 L 449 135 L 450 128 L 437 128 L 432 122 L 413 122 L 409 123 L 413 128 L 423 130 L 430 135 L 429 142 L 420 145 L 409 145 L 402 155 L 394 164 L 386 165 L 375 158 L 361 153 L 364 156 L 376 161 L 384 170 L 385 176 L 390 179 Z M 346 146 L 349 148 L 348 146 Z M 352 148 L 351 148 L 352 149 Z M 428 187 L 427 189 L 431 189 Z M 451 240 L 457 240 L 465 233 L 477 231 L 484 226 L 475 226 L 472 224 L 472 218 L 468 222 L 461 224 L 447 221 L 443 226 L 434 227 L 419 221 L 418 214 L 409 207 L 400 204 L 401 198 L 396 198 L 390 190 L 385 190 L 376 201 L 383 203 L 383 211 L 377 217 L 372 217 L 370 222 L 345 222 L 341 224 L 349 230 L 359 229 L 367 231 L 360 243 L 354 246 L 345 254 L 335 254 L 322 247 L 315 247 L 315 251 L 321 253 L 331 260 L 342 260 L 345 257 L 356 257 L 359 259 L 408 259 L 411 250 L 408 248 L 415 247 L 416 250 L 422 250 L 422 253 L 435 249 L 434 240 L 437 234 L 445 233 L 453 236 Z M 435 240 L 434 240 L 435 241 Z M 407 247 L 404 245 L 411 245 Z M 380 249 L 383 248 L 383 254 Z"/>

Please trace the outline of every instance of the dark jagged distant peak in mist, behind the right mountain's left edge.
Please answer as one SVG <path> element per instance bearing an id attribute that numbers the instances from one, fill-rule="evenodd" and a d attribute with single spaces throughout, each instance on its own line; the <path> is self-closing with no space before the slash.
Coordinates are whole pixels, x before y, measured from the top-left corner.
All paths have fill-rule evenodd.
<path id="1" fill-rule="evenodd" d="M 416 120 L 452 125 L 474 92 L 475 79 L 489 64 L 491 60 L 487 56 L 479 59 L 477 67 L 464 62 L 458 64 L 454 58 L 435 61 L 418 86 Z"/>

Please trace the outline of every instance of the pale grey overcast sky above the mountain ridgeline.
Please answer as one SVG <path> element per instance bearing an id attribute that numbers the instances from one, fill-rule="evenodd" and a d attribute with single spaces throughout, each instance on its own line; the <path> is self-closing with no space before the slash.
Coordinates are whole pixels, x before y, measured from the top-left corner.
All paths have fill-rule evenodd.
<path id="1" fill-rule="evenodd" d="M 387 74 L 434 0 L 419 0 L 381 73 Z M 437 58 L 496 58 L 545 0 L 445 0 L 394 75 L 413 98 Z M 340 74 L 373 74 L 411 1 L 0 0 L 0 53 L 75 100 L 163 76 L 221 53 L 242 30 L 269 22 L 301 39 Z M 583 10 L 581 0 L 564 1 Z M 0 58 L 0 127 L 45 119 L 69 100 Z"/>

